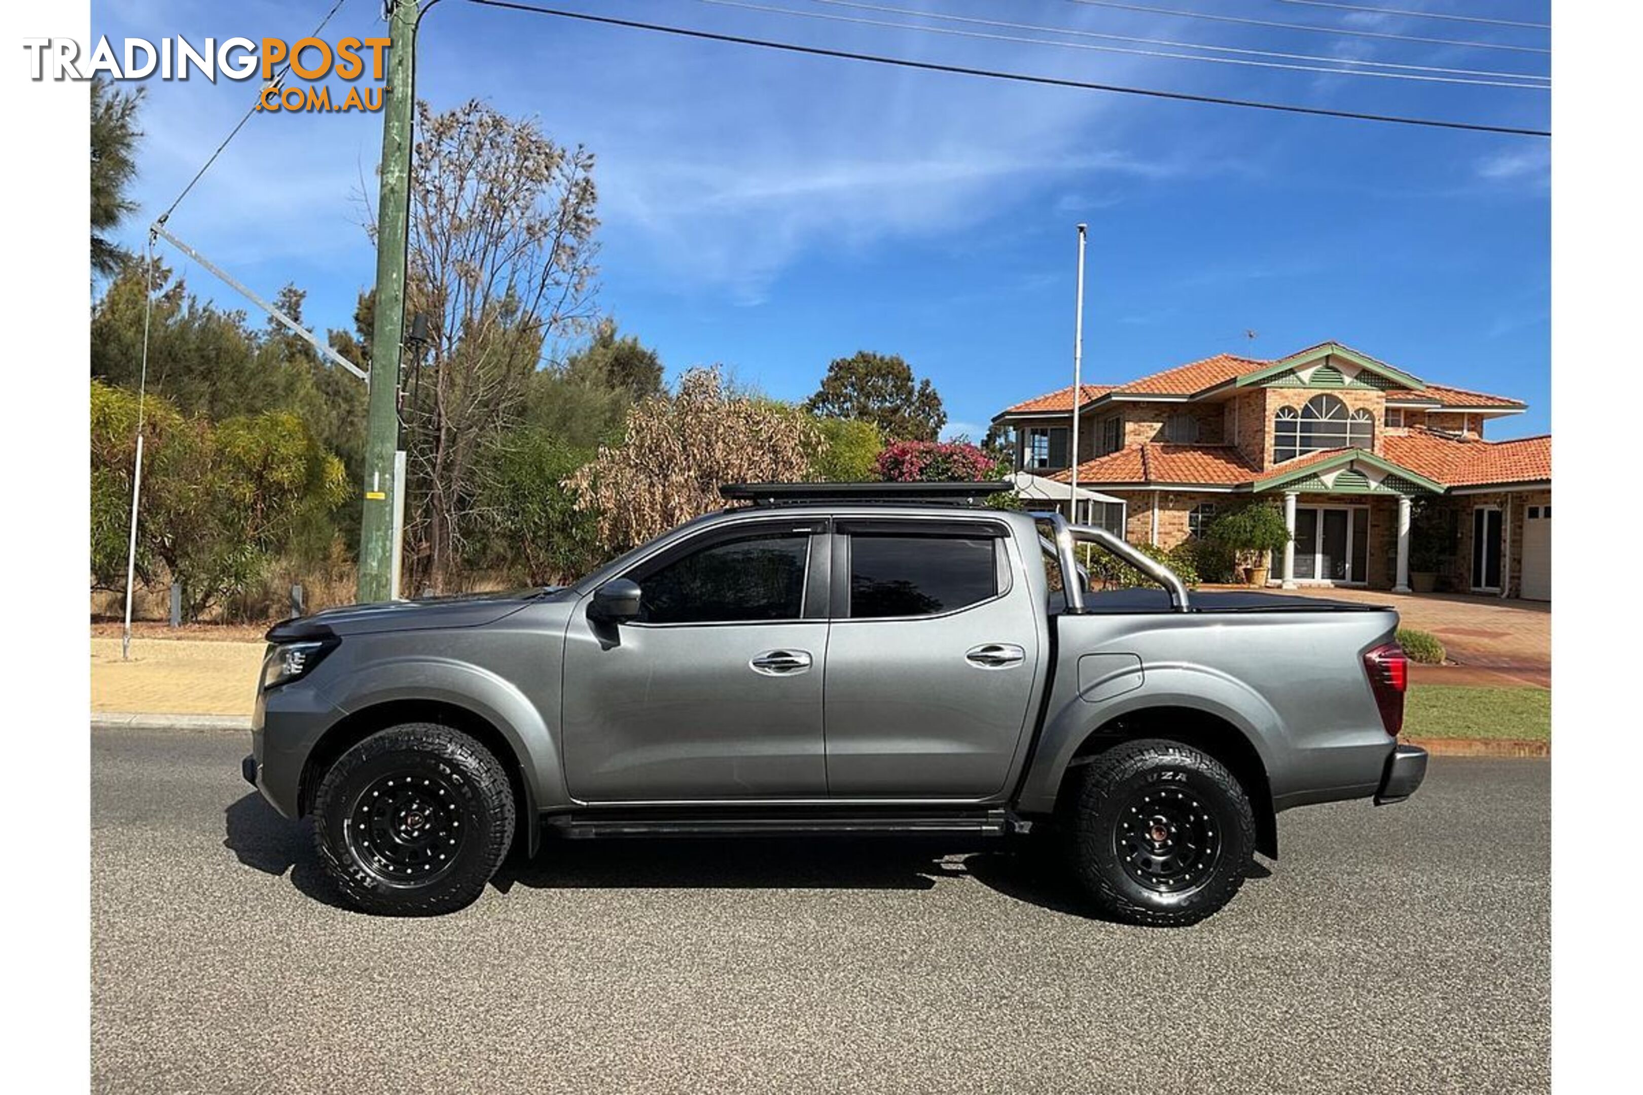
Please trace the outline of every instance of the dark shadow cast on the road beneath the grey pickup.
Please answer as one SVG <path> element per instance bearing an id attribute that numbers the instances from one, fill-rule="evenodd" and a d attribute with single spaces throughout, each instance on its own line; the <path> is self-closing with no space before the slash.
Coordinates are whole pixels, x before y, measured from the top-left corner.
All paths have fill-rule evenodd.
<path id="1" fill-rule="evenodd" d="M 314 826 L 281 818 L 260 795 L 225 811 L 223 847 L 246 867 L 289 877 L 302 895 L 332 908 L 337 896 L 314 852 Z M 1255 868 L 1252 877 L 1265 877 Z M 1060 859 L 1037 841 L 955 842 L 937 837 L 544 837 L 534 860 L 514 854 L 491 880 L 508 895 L 526 890 L 933 890 L 976 882 L 1015 901 L 1101 919 Z"/>

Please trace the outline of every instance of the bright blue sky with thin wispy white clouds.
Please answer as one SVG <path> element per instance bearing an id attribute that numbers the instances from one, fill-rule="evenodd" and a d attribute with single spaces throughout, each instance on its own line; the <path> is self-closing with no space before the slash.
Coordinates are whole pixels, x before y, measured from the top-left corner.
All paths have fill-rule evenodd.
<path id="1" fill-rule="evenodd" d="M 817 0 L 749 0 L 910 23 Z M 864 0 L 1139 38 L 1449 69 L 1546 72 L 1544 54 L 1336 38 L 1078 0 Z M 1137 0 L 1249 18 L 1544 46 L 1539 31 L 1282 0 Z M 1544 2 L 1362 0 L 1548 21 Z M 94 3 L 94 34 L 307 34 L 329 0 Z M 1268 71 L 797 18 L 702 0 L 567 8 L 946 64 L 1549 128 L 1541 90 Z M 997 34 L 1001 28 L 933 23 Z M 325 34 L 380 34 L 347 0 Z M 1122 44 L 1083 38 L 1089 44 Z M 1134 46 L 1129 46 L 1134 48 Z M 1526 399 L 1490 437 L 1549 428 L 1549 153 L 1538 138 L 1153 102 L 802 57 L 442 0 L 419 94 L 478 97 L 587 144 L 600 187 L 600 305 L 670 373 L 723 363 L 808 396 L 826 363 L 900 353 L 950 432 L 1071 381 L 1075 225 L 1089 223 L 1084 378 L 1326 338 L 1433 381 Z M 151 80 L 136 197 L 158 213 L 255 89 Z M 345 327 L 375 276 L 378 115 L 256 115 L 171 218 L 251 287 L 294 281 Z M 232 291 L 177 259 L 191 289 Z M 258 320 L 260 322 L 260 320 Z M 1257 337 L 1249 340 L 1245 332 Z"/>

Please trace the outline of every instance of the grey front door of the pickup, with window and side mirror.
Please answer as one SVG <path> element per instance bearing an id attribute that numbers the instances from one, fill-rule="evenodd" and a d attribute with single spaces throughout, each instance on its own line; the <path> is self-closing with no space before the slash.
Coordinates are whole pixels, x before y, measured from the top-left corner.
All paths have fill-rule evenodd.
<path id="1" fill-rule="evenodd" d="M 588 801 L 826 795 L 826 522 L 738 524 L 623 575 L 631 622 L 572 614 L 564 763 Z"/>

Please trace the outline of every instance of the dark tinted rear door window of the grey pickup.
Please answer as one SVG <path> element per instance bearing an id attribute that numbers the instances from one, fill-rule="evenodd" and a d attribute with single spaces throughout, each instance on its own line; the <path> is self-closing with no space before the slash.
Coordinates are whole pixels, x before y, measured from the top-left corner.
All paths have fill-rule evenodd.
<path id="1" fill-rule="evenodd" d="M 999 591 L 996 545 L 986 537 L 858 534 L 849 542 L 849 616 L 933 616 L 986 601 Z"/>

